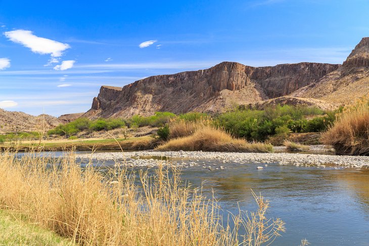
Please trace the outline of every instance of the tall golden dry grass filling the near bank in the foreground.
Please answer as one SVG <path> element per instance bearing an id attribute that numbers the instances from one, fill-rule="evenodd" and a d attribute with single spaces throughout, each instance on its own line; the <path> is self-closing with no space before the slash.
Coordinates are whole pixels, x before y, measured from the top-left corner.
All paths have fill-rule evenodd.
<path id="1" fill-rule="evenodd" d="M 2 153 L 1 208 L 83 245 L 261 245 L 285 230 L 282 220 L 266 218 L 268 202 L 255 194 L 258 211 L 231 216 L 233 229 L 223 225 L 216 200 L 183 185 L 175 167 L 135 180 L 117 166 L 103 174 L 73 156 L 58 161 Z"/>

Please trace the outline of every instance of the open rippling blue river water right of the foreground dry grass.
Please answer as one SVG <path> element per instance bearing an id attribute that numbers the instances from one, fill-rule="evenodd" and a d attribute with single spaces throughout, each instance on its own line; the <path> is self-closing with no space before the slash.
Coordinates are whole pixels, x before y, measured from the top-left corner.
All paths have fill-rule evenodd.
<path id="1" fill-rule="evenodd" d="M 203 183 L 209 197 L 214 190 L 224 214 L 237 214 L 239 207 L 255 211 L 251 189 L 269 200 L 268 216 L 286 223 L 286 233 L 272 245 L 299 245 L 304 238 L 311 245 L 369 245 L 368 169 L 199 162 L 226 169 L 209 171 L 202 165 L 193 166 L 183 168 L 181 177 L 193 187 Z M 264 168 L 258 170 L 257 166 Z"/>

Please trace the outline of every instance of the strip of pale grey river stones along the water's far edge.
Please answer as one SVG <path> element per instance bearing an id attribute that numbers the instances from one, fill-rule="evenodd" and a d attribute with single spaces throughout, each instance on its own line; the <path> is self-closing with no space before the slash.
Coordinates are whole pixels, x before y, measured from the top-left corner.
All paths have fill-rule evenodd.
<path id="1" fill-rule="evenodd" d="M 344 166 L 351 168 L 369 167 L 369 157 L 362 156 L 334 156 L 319 154 L 292 154 L 292 153 L 225 153 L 225 152 L 184 152 L 184 151 L 140 151 L 140 152 L 108 152 L 94 154 L 79 154 L 77 158 L 82 160 L 94 159 L 99 162 L 115 161 L 122 165 L 128 166 L 155 166 L 160 162 L 172 163 L 173 161 L 181 162 L 186 159 L 192 162 L 191 165 L 203 165 L 203 160 L 222 160 L 226 167 L 227 163 L 256 163 L 268 164 L 279 163 L 280 165 L 295 166 L 318 166 L 326 165 Z M 153 157 L 143 159 L 142 157 Z M 162 160 L 158 157 L 164 157 Z M 170 158 L 170 159 L 166 159 Z M 155 160 L 157 159 L 157 160 Z M 186 164 L 190 165 L 190 164 Z M 205 165 L 204 165 L 205 166 Z"/>

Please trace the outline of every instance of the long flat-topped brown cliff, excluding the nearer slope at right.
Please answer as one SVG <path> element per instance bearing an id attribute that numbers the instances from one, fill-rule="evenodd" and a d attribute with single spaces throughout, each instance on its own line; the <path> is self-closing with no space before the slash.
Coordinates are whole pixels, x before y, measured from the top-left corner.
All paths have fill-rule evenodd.
<path id="1" fill-rule="evenodd" d="M 235 105 L 287 95 L 338 67 L 299 63 L 255 68 L 222 62 L 205 70 L 148 77 L 123 88 L 102 86 L 84 117 L 129 117 L 157 111 L 222 112 Z"/>

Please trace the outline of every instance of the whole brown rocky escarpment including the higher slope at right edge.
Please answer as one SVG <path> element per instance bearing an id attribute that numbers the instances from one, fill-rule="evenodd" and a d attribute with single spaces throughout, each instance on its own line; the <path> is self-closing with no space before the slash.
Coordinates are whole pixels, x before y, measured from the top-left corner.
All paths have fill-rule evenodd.
<path id="1" fill-rule="evenodd" d="M 84 117 L 223 112 L 237 105 L 277 103 L 332 109 L 368 93 L 369 37 L 365 37 L 343 65 L 250 67 L 222 62 L 209 69 L 148 77 L 122 88 L 102 86 Z"/>

